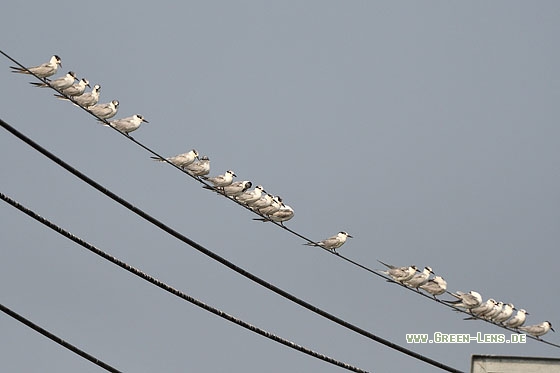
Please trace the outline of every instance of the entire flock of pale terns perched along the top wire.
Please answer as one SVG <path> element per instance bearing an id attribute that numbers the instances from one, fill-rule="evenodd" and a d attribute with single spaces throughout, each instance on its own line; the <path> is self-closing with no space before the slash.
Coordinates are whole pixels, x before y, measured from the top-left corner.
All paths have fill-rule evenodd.
<path id="1" fill-rule="evenodd" d="M 101 86 L 96 84 L 90 92 L 85 92 L 86 87 L 91 88 L 88 80 L 85 78 L 78 80 L 73 71 L 69 71 L 61 78 L 49 80 L 48 77 L 56 74 L 59 66 L 62 66 L 62 61 L 60 57 L 54 55 L 49 62 L 38 66 L 29 67 L 27 69 L 14 66 L 11 66 L 11 68 L 15 73 L 30 74 L 31 72 L 37 77 L 45 79 L 47 83 L 31 84 L 41 88 L 54 88 L 61 93 L 55 94 L 55 97 L 62 100 L 71 100 L 74 104 L 85 108 L 100 118 L 103 124 L 107 125 L 106 123 L 109 123 L 110 126 L 126 135 L 137 130 L 143 122 L 148 123 L 140 114 L 107 121 L 117 114 L 119 102 L 113 100 L 108 103 L 99 104 L 99 91 Z M 76 81 L 77 83 L 75 83 Z M 217 176 L 207 176 L 210 173 L 210 159 L 207 156 L 199 157 L 198 151 L 195 149 L 165 159 L 159 157 L 152 158 L 160 162 L 169 162 L 183 169 L 189 175 L 204 180 L 205 185 L 203 188 L 210 189 L 227 198 L 231 198 L 261 216 L 261 218 L 255 218 L 254 220 L 263 222 L 273 221 L 283 225 L 285 221 L 290 220 L 294 216 L 294 210 L 286 205 L 280 196 L 267 193 L 261 185 L 257 185 L 251 189 L 253 185 L 251 181 L 233 181 L 233 178 L 237 175 L 235 175 L 235 172 L 232 170 L 227 170 L 224 174 Z M 336 253 L 336 249 L 341 247 L 346 242 L 347 238 L 352 238 L 352 236 L 342 231 L 322 241 L 309 242 L 304 245 L 318 246 Z M 388 275 L 395 282 L 416 289 L 416 291 L 422 289 L 431 294 L 434 299 L 437 299 L 436 295 L 447 292 L 447 282 L 441 276 L 434 275 L 433 278 L 430 278 L 430 275 L 434 274 L 430 267 L 424 267 L 422 271 L 419 271 L 414 265 L 396 267 L 381 261 L 379 262 L 388 268 L 380 272 Z M 456 308 L 462 308 L 472 314 L 472 317 L 467 319 L 488 320 L 501 326 L 523 331 L 536 338 L 546 334 L 549 330 L 554 331 L 549 321 L 544 321 L 536 325 L 523 326 L 526 316 L 528 315 L 527 311 L 518 309 L 517 313 L 513 315 L 515 307 L 511 303 L 505 304 L 503 302 L 496 302 L 494 299 L 488 299 L 482 302 L 482 296 L 476 291 L 470 291 L 468 293 L 457 291 L 449 294 L 456 299 L 443 302 Z"/>

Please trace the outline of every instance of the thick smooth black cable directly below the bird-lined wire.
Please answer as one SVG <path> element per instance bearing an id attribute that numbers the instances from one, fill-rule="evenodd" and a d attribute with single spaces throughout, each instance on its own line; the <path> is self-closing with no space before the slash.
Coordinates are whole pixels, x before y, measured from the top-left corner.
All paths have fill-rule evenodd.
<path id="1" fill-rule="evenodd" d="M 25 136 L 24 134 L 22 134 L 21 132 L 19 132 L 18 130 L 16 130 L 14 127 L 10 126 L 8 123 L 6 123 L 4 120 L 0 119 L 0 126 L 2 126 L 4 129 L 6 129 L 8 132 L 10 132 L 12 135 L 14 135 L 15 137 L 17 137 L 18 139 L 20 139 L 21 141 L 25 142 L 27 145 L 29 145 L 30 147 L 32 147 L 33 149 L 35 149 L 36 151 L 38 151 L 39 153 L 43 154 L 45 157 L 49 158 L 51 161 L 55 162 L 57 165 L 59 165 L 60 167 L 64 168 L 65 170 L 67 170 L 68 172 L 70 172 L 72 175 L 78 177 L 79 179 L 81 179 L 82 181 L 86 182 L 87 184 L 89 184 L 90 186 L 92 186 L 93 188 L 97 189 L 98 191 L 100 191 L 101 193 L 105 194 L 107 197 L 111 198 L 112 200 L 114 200 L 115 202 L 119 203 L 120 205 L 126 207 L 128 210 L 134 212 L 136 215 L 140 216 L 141 218 L 143 218 L 144 220 L 150 222 L 151 224 L 155 225 L 156 227 L 160 228 L 161 230 L 163 230 L 164 232 L 166 232 L 167 234 L 177 238 L 178 240 L 186 243 L 187 245 L 193 247 L 194 249 L 198 250 L 199 252 L 203 253 L 204 255 L 218 261 L 219 263 L 225 265 L 226 267 L 230 268 L 231 270 L 239 273 L 240 275 L 250 279 L 253 282 L 256 282 L 257 284 L 273 291 L 274 293 L 326 318 L 329 319 L 349 330 L 352 330 L 358 334 L 363 335 L 364 337 L 367 337 L 371 340 L 374 340 L 378 343 L 381 343 L 389 348 L 392 348 L 394 350 L 397 350 L 399 352 L 402 352 L 408 356 L 411 356 L 415 359 L 424 361 L 425 363 L 428 363 L 430 365 L 433 365 L 435 367 L 438 367 L 440 369 L 443 370 L 447 370 L 449 372 L 460 372 L 459 370 L 447 366 L 445 364 L 442 364 L 436 360 L 430 359 L 426 356 L 423 356 L 421 354 L 418 354 L 414 351 L 408 350 L 400 345 L 397 345 L 393 342 L 390 342 L 384 338 L 378 337 L 377 335 L 370 333 L 362 328 L 359 328 L 339 317 L 336 317 L 318 307 L 315 307 L 314 305 L 288 293 L 285 290 L 280 289 L 279 287 L 273 285 L 272 283 L 269 283 L 263 279 L 261 279 L 260 277 L 246 271 L 245 269 L 237 266 L 236 264 L 228 261 L 227 259 L 219 256 L 218 254 L 214 253 L 213 251 L 205 248 L 204 246 L 196 243 L 195 241 L 191 240 L 190 238 L 186 237 L 185 235 L 177 232 L 176 230 L 172 229 L 171 227 L 167 226 L 166 224 L 164 224 L 163 222 L 157 220 L 156 218 L 154 218 L 153 216 L 147 214 L 146 212 L 142 211 L 141 209 L 139 209 L 138 207 L 132 205 L 130 202 L 124 200 L 123 198 L 119 197 L 118 195 L 116 195 L 115 193 L 111 192 L 110 190 L 108 190 L 107 188 L 105 188 L 104 186 L 102 186 L 101 184 L 97 183 L 95 180 L 89 178 L 88 176 L 86 176 L 85 174 L 83 174 L 82 172 L 80 172 L 79 170 L 77 170 L 76 168 L 70 166 L 68 163 L 64 162 L 62 159 L 58 158 L 57 156 L 55 156 L 53 153 L 49 152 L 48 150 L 46 150 L 45 148 L 43 148 L 42 146 L 40 146 L 39 144 L 37 144 L 36 142 L 34 142 L 33 140 L 31 140 L 29 137 Z"/>

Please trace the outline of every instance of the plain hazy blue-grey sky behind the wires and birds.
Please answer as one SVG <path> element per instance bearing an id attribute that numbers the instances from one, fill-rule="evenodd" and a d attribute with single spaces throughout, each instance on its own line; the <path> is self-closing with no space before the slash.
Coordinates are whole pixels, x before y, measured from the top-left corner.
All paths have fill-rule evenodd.
<path id="1" fill-rule="evenodd" d="M 88 5 L 89 4 L 89 5 Z M 340 251 L 430 265 L 560 328 L 560 4 L 555 1 L 9 2 L 1 48 L 120 101 L 163 154 L 280 194 L 287 224 Z M 533 340 L 407 345 L 406 333 L 502 333 L 254 222 L 0 58 L 1 118 L 244 269 L 391 342 L 468 371 L 472 354 L 559 356 Z M 0 130 L 2 193 L 158 279 L 374 372 L 434 367 L 259 287 Z M 130 372 L 339 372 L 167 294 L 0 204 L 0 302 Z M 0 315 L 1 370 L 100 368 Z M 508 334 L 509 336 L 509 334 Z M 555 333 L 545 339 L 559 343 Z"/>

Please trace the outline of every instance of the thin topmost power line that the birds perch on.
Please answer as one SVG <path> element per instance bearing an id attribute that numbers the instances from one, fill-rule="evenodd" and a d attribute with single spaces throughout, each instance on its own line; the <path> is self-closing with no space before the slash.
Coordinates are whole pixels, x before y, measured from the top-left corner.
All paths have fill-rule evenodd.
<path id="1" fill-rule="evenodd" d="M 48 84 L 48 81 L 47 81 L 46 79 L 40 78 L 40 77 L 38 77 L 37 75 L 33 74 L 31 71 L 29 71 L 29 70 L 27 69 L 27 67 L 23 66 L 21 63 L 19 63 L 17 60 L 15 60 L 14 58 L 12 58 L 11 56 L 9 56 L 8 54 L 6 54 L 5 52 L 3 52 L 3 51 L 0 50 L 0 53 L 3 54 L 6 58 L 8 58 L 9 60 L 11 60 L 12 62 L 14 62 L 15 64 L 17 64 L 18 66 L 20 66 L 22 69 L 24 69 L 24 70 L 26 70 L 27 72 L 29 72 L 29 73 L 30 73 L 31 75 L 33 75 L 35 78 L 37 78 L 37 79 L 39 79 L 40 81 L 42 81 L 42 82 Z M 53 89 L 54 91 L 56 91 L 56 92 L 58 92 L 59 94 L 61 94 L 62 96 L 64 96 L 64 97 L 66 97 L 67 99 L 69 99 L 70 101 L 74 102 L 73 97 L 70 97 L 70 96 L 65 95 L 64 93 L 62 93 L 61 91 L 57 90 L 56 88 L 53 88 L 53 87 L 50 86 L 50 85 L 48 85 L 48 86 L 49 86 L 51 89 Z M 93 116 L 94 118 L 96 118 L 98 121 L 100 121 L 100 122 L 102 122 L 102 123 L 105 123 L 105 124 L 107 124 L 107 125 L 109 124 L 109 122 L 108 122 L 106 119 L 101 119 L 101 118 L 99 118 L 97 115 L 93 114 L 91 111 L 87 110 L 86 108 L 82 107 L 81 105 L 76 104 L 76 106 L 78 106 L 80 109 L 84 110 L 84 111 L 87 112 L 88 114 L 92 115 L 92 116 Z M 147 152 L 151 153 L 151 154 L 154 155 L 156 158 L 161 159 L 162 161 L 164 161 L 164 162 L 170 164 L 172 167 L 176 168 L 177 170 L 183 172 L 183 174 L 189 176 L 190 178 L 192 178 L 192 179 L 198 181 L 199 183 L 201 183 L 201 184 L 203 184 L 203 185 L 205 185 L 205 186 L 207 186 L 207 187 L 210 187 L 210 189 L 212 189 L 211 185 L 208 184 L 208 183 L 206 183 L 204 180 L 202 180 L 202 179 L 200 179 L 200 178 L 198 178 L 198 177 L 195 177 L 195 176 L 189 174 L 189 173 L 186 172 L 183 168 L 181 168 L 181 167 L 179 167 L 179 166 L 173 164 L 172 162 L 170 162 L 169 160 L 167 160 L 167 159 L 166 159 L 165 157 L 163 157 L 162 155 L 158 154 L 158 153 L 157 153 L 156 151 L 154 151 L 153 149 L 151 149 L 151 148 L 149 148 L 148 146 L 142 144 L 141 142 L 135 140 L 135 139 L 134 139 L 132 136 L 130 136 L 129 134 L 123 133 L 123 132 L 119 131 L 118 129 L 116 129 L 116 128 L 112 127 L 112 126 L 109 126 L 109 127 L 110 127 L 111 129 L 113 129 L 114 131 L 118 132 L 119 134 L 121 134 L 122 136 L 128 138 L 130 141 L 132 141 L 133 143 L 135 143 L 137 146 L 139 146 L 139 147 L 141 147 L 142 149 L 146 150 Z M 215 189 L 214 189 L 214 190 L 215 190 Z M 239 206 L 241 206 L 241 207 L 243 207 L 243 208 L 249 210 L 250 212 L 252 212 L 252 213 L 254 213 L 254 214 L 260 216 L 261 218 L 265 218 L 265 219 L 266 219 L 265 216 L 259 214 L 257 211 L 255 211 L 255 210 L 249 208 L 248 206 L 246 206 L 246 205 L 240 203 L 239 201 L 237 201 L 237 200 L 235 200 L 235 199 L 233 199 L 233 198 L 229 198 L 229 197 L 227 197 L 225 194 L 222 194 L 222 193 L 217 192 L 217 190 L 215 190 L 215 191 L 216 191 L 216 193 L 217 193 L 218 195 L 220 195 L 220 196 L 222 196 L 222 197 L 225 197 L 226 199 L 228 199 L 228 200 L 230 200 L 230 201 L 233 201 L 234 203 L 238 204 Z M 283 224 L 280 224 L 280 223 L 277 223 L 277 222 L 274 222 L 274 221 L 271 221 L 271 220 L 268 220 L 268 219 L 267 219 L 267 221 L 271 222 L 272 224 L 276 225 L 277 227 L 280 227 L 280 228 L 282 228 L 282 229 L 288 231 L 288 232 L 291 233 L 292 235 L 295 235 L 295 236 L 297 236 L 297 237 L 303 239 L 304 241 L 307 241 L 307 242 L 309 242 L 309 243 L 314 242 L 314 241 L 312 241 L 311 239 L 309 239 L 308 237 L 306 237 L 306 236 L 304 236 L 304 235 L 302 235 L 302 234 L 300 234 L 300 233 L 298 233 L 298 232 L 296 232 L 296 231 L 294 231 L 294 230 L 292 230 L 292 229 L 286 227 L 286 226 L 283 225 Z M 342 260 L 344 260 L 344 261 L 346 261 L 346 262 L 348 262 L 348 263 L 350 263 L 350 264 L 352 264 L 352 265 L 354 265 L 354 266 L 356 266 L 356 267 L 358 267 L 358 268 L 360 268 L 360 269 L 363 269 L 363 270 L 365 270 L 365 271 L 367 271 L 367 272 L 369 272 L 369 273 L 371 273 L 371 274 L 373 274 L 373 275 L 376 275 L 376 276 L 378 276 L 378 277 L 381 277 L 381 278 L 383 278 L 383 279 L 385 279 L 385 280 L 387 280 L 387 281 L 389 281 L 389 282 L 394 282 L 394 283 L 396 283 L 396 282 L 393 281 L 391 278 L 386 277 L 386 276 L 384 276 L 383 274 L 381 274 L 381 273 L 379 273 L 379 272 L 377 272 L 377 271 L 375 271 L 375 270 L 373 270 L 373 269 L 371 269 L 371 268 L 369 268 L 369 267 L 367 267 L 367 266 L 365 266 L 365 265 L 363 265 L 363 264 L 361 264 L 361 263 L 358 263 L 358 262 L 356 262 L 356 261 L 354 261 L 354 260 L 352 260 L 352 259 L 350 259 L 350 258 L 348 258 L 348 257 L 346 257 L 346 256 L 344 256 L 344 255 L 341 255 L 341 254 L 338 253 L 338 252 L 330 251 L 330 250 L 325 249 L 325 248 L 323 248 L 323 247 L 321 247 L 321 246 L 317 246 L 317 247 L 323 249 L 323 251 L 326 251 L 326 252 L 328 252 L 329 254 L 336 255 L 336 256 L 340 257 Z M 467 315 L 469 315 L 469 316 L 471 316 L 471 317 L 474 317 L 474 318 L 479 319 L 479 320 L 482 320 L 482 321 L 486 321 L 487 323 L 490 323 L 490 324 L 492 324 L 492 325 L 501 327 L 502 329 L 506 329 L 506 330 L 508 330 L 508 331 L 510 331 L 510 332 L 519 333 L 518 330 L 514 330 L 514 329 L 508 328 L 508 327 L 506 327 L 506 326 L 504 326 L 504 325 L 499 325 L 499 324 L 493 323 L 491 320 L 487 320 L 487 319 L 483 319 L 483 318 L 477 317 L 477 316 L 472 315 L 471 313 L 469 313 L 469 312 L 467 312 L 467 311 L 465 311 L 465 310 L 463 310 L 463 309 L 454 307 L 454 306 L 452 306 L 452 305 L 450 305 L 450 304 L 447 304 L 447 303 L 443 303 L 443 302 L 441 302 L 439 299 L 432 298 L 431 296 L 429 296 L 429 295 L 427 295 L 427 294 L 424 294 L 424 293 L 415 291 L 414 289 L 412 289 L 412 288 L 410 288 L 410 287 L 407 287 L 407 286 L 405 286 L 405 285 L 403 285 L 403 284 L 400 284 L 400 283 L 397 283 L 397 284 L 398 284 L 398 285 L 401 285 L 401 287 L 407 289 L 408 291 L 411 291 L 412 293 L 422 295 L 422 296 L 424 296 L 426 299 L 429 299 L 429 300 L 432 300 L 432 301 L 436 301 L 436 302 L 438 302 L 438 303 L 440 303 L 440 304 L 443 304 L 443 305 L 445 305 L 445 306 L 447 306 L 447 307 L 449 307 L 449 308 L 454 309 L 455 311 L 462 312 L 462 313 L 464 313 L 464 314 L 467 314 Z M 446 293 L 451 294 L 449 291 L 446 291 Z M 557 345 L 557 344 L 554 344 L 554 343 L 551 343 L 551 342 L 547 342 L 547 341 L 545 341 L 545 340 L 543 340 L 543 339 L 540 339 L 540 338 L 535 338 L 535 337 L 533 337 L 533 336 L 531 336 L 531 335 L 527 335 L 527 336 L 528 336 L 529 338 L 531 338 L 531 339 L 536 340 L 536 341 L 540 341 L 540 342 L 549 344 L 549 345 L 551 345 L 551 346 L 555 346 L 555 347 L 560 348 L 560 345 Z"/>

